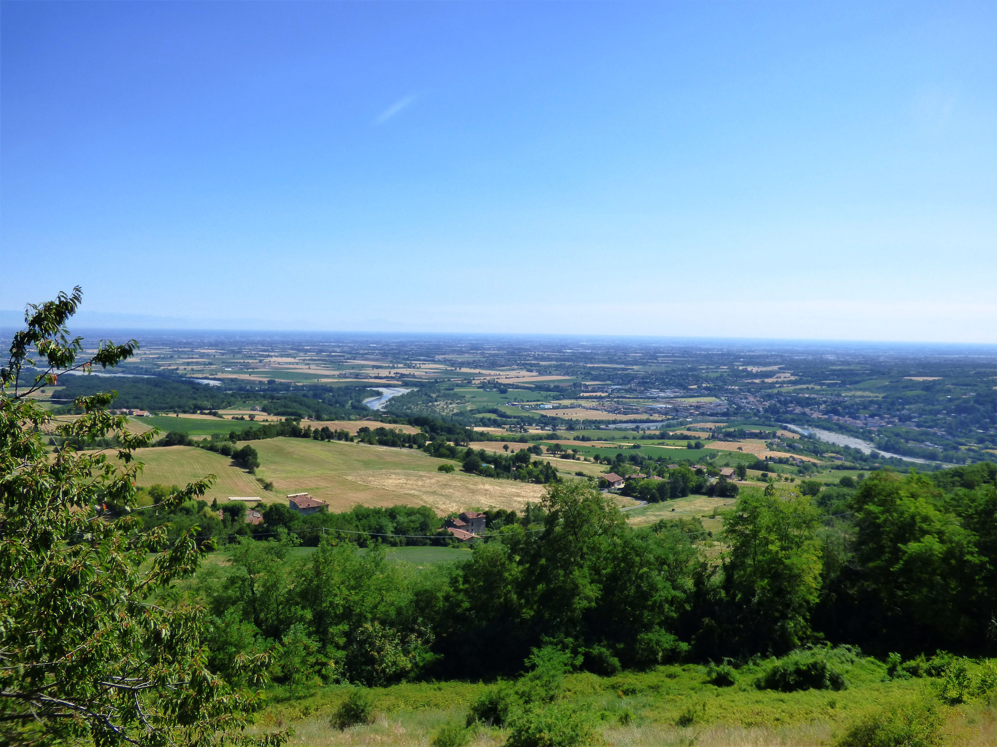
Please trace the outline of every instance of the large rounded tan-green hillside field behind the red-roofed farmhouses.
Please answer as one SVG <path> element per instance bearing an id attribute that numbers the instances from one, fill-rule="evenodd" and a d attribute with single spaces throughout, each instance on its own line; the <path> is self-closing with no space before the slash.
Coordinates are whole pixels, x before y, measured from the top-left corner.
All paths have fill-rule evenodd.
<path id="1" fill-rule="evenodd" d="M 259 454 L 257 476 L 273 482 L 264 491 L 253 475 L 230 459 L 193 446 L 142 449 L 146 467 L 138 484 L 185 484 L 209 473 L 218 480 L 206 500 L 259 496 L 265 502 L 286 502 L 288 493 L 307 492 L 334 512 L 365 506 L 429 506 L 439 515 L 468 508 L 514 509 L 537 502 L 541 485 L 495 480 L 437 470 L 453 461 L 436 459 L 417 449 L 370 446 L 309 438 L 270 438 L 250 442 Z M 455 465 L 456 466 L 456 465 Z"/>

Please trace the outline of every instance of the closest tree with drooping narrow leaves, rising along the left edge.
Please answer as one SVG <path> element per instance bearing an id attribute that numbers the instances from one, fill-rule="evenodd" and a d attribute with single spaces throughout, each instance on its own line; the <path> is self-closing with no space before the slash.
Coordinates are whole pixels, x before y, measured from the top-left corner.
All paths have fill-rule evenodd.
<path id="1" fill-rule="evenodd" d="M 155 431 L 133 435 L 126 417 L 111 415 L 115 392 L 79 397 L 84 414 L 61 424 L 29 397 L 59 372 L 115 366 L 138 349 L 105 342 L 78 362 L 82 339 L 68 337 L 66 322 L 81 300 L 76 288 L 29 306 L 0 369 L 0 742 L 279 744 L 282 735 L 239 734 L 257 701 L 208 670 L 203 610 L 166 602 L 210 546 L 197 544 L 196 526 L 170 539 L 166 526 L 143 532 L 134 516 L 133 452 Z M 42 373 L 26 381 L 36 354 Z M 50 455 L 49 432 L 113 436 L 116 458 L 72 446 Z M 202 495 L 210 479 L 155 506 Z M 242 657 L 237 667 L 259 683 L 265 662 Z"/>

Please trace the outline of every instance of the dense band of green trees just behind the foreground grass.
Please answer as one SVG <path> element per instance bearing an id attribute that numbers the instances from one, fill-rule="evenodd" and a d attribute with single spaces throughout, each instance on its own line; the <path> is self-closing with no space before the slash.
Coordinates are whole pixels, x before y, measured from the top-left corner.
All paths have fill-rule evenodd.
<path id="1" fill-rule="evenodd" d="M 744 490 L 724 516 L 719 563 L 698 521 L 632 529 L 581 481 L 548 487 L 542 521 L 509 522 L 467 562 L 424 574 L 331 534 L 288 572 L 287 542 L 250 542 L 201 587 L 209 647 L 224 669 L 294 641 L 314 654 L 309 676 L 366 684 L 511 673 L 543 645 L 600 674 L 824 641 L 898 661 L 993 655 L 997 470 L 979 466 L 875 472 L 816 497 Z"/>

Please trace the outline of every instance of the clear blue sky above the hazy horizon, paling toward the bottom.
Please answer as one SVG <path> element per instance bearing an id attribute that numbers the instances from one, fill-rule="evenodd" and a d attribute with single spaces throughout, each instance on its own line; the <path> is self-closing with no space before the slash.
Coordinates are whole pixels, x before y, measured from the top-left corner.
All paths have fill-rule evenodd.
<path id="1" fill-rule="evenodd" d="M 997 342 L 994 3 L 0 12 L 0 309 Z"/>

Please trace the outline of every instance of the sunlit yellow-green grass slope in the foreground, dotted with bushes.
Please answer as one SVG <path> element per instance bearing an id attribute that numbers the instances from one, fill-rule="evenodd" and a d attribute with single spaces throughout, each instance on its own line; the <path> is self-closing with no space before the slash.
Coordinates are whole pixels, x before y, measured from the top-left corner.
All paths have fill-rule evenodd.
<path id="1" fill-rule="evenodd" d="M 840 691 L 758 689 L 755 681 L 768 665 L 769 661 L 759 661 L 737 668 L 729 687 L 711 684 L 707 667 L 699 664 L 665 665 L 608 677 L 579 672 L 565 678 L 560 697 L 591 719 L 598 743 L 603 745 L 819 747 L 833 744 L 863 717 L 923 698 L 933 686 L 923 679 L 887 680 L 884 664 L 859 656 L 843 667 L 847 687 Z M 331 727 L 329 716 L 345 699 L 347 687 L 315 687 L 293 699 L 281 697 L 274 688 L 255 731 L 291 726 L 294 743 L 311 747 L 422 746 L 443 725 L 463 724 L 471 704 L 488 686 L 450 680 L 371 688 L 374 723 L 345 731 Z M 997 699 L 992 695 L 989 700 L 978 698 L 959 707 L 937 707 L 945 721 L 943 744 L 991 747 L 997 743 Z M 468 743 L 498 747 L 506 735 L 503 729 L 481 726 L 468 735 Z"/>

